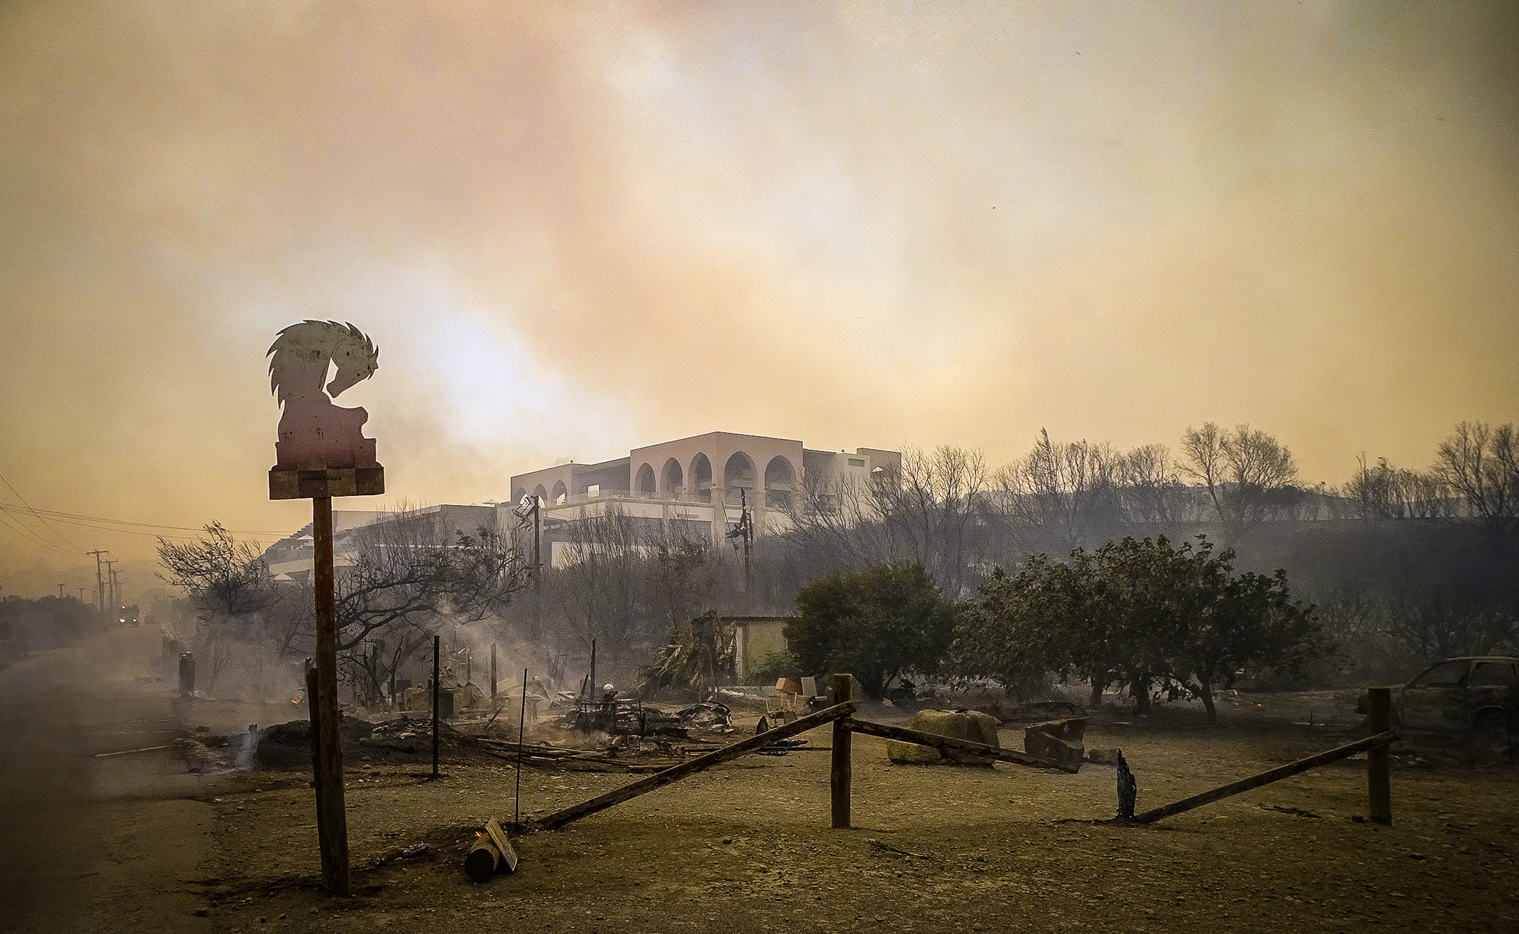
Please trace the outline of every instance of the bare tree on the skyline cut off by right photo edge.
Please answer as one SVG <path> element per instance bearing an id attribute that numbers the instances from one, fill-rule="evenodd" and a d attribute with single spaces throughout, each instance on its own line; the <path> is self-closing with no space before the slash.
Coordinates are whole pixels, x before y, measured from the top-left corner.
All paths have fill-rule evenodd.
<path id="1" fill-rule="evenodd" d="M 1505 542 L 1519 527 L 1519 436 L 1513 425 L 1458 424 L 1440 442 L 1434 471 L 1495 542 Z"/>

